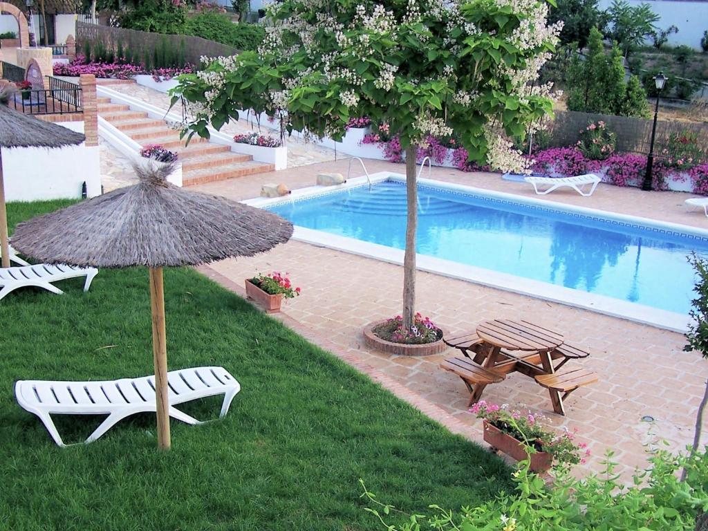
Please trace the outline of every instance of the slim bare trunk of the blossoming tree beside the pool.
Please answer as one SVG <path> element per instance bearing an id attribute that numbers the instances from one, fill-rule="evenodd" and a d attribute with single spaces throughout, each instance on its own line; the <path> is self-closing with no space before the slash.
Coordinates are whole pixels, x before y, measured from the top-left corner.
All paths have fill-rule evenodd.
<path id="1" fill-rule="evenodd" d="M 416 229 L 418 228 L 416 147 L 406 147 L 406 257 L 403 263 L 403 324 L 410 330 L 416 313 Z"/>

